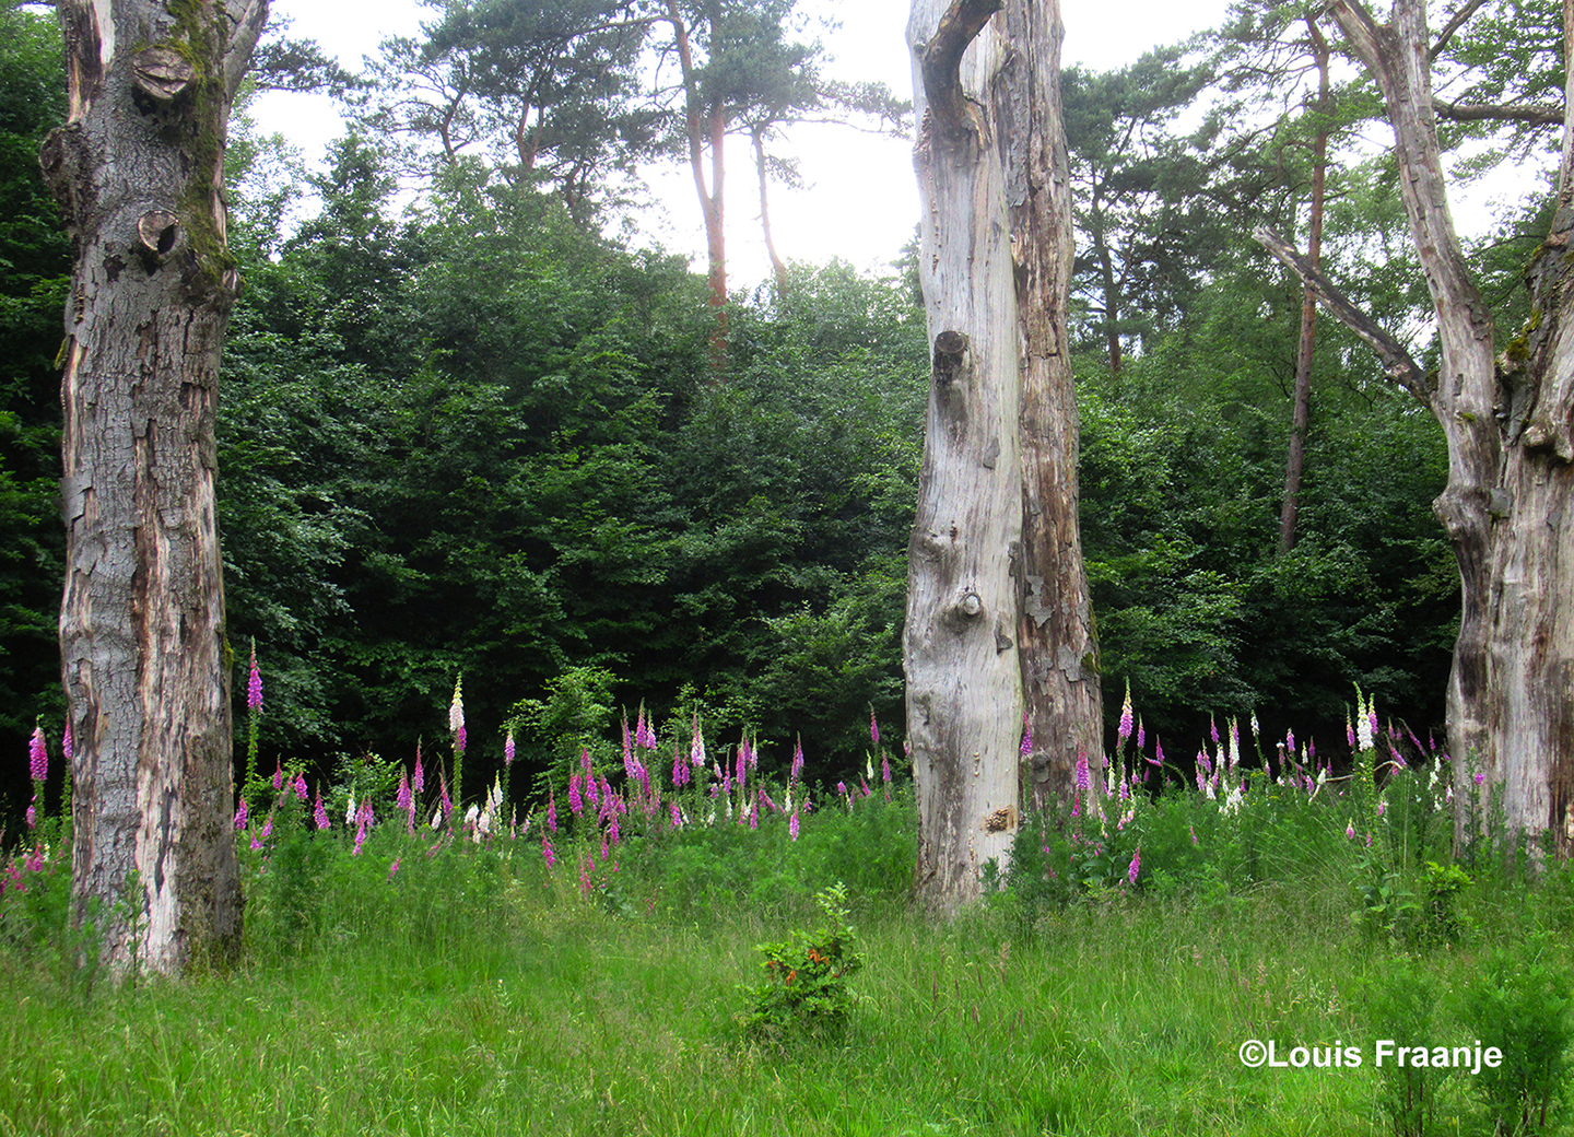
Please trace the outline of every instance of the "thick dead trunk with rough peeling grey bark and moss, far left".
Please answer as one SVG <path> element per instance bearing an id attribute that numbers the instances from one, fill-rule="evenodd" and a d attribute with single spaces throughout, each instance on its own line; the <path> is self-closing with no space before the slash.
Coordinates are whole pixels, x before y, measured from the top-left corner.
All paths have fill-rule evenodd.
<path id="1" fill-rule="evenodd" d="M 231 654 L 214 520 L 230 106 L 266 0 L 60 0 L 69 121 L 42 165 L 66 307 L 61 672 L 72 896 L 102 957 L 173 973 L 239 946 Z"/>

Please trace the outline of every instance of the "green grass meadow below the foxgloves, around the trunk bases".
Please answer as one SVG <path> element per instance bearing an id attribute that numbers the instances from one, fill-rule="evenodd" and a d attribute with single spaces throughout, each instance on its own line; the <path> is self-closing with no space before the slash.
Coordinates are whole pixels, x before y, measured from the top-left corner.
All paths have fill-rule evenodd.
<path id="1" fill-rule="evenodd" d="M 0 1137 L 1401 1132 L 1379 1031 L 1456 1044 L 1481 975 L 1533 956 L 1561 981 L 1574 946 L 1566 866 L 1527 880 L 1484 855 L 1429 915 L 1428 784 L 1390 776 L 1382 813 L 1357 781 L 1166 795 L 1096 854 L 1051 819 L 1011 888 L 949 923 L 907 904 L 910 794 L 828 798 L 798 841 L 779 816 L 652 830 L 590 891 L 593 833 L 559 835 L 548 871 L 535 830 L 480 849 L 389 824 L 351 855 L 291 824 L 261 852 L 241 836 L 244 965 L 120 987 L 63 962 L 57 858 L 0 896 Z M 834 880 L 864 961 L 845 1031 L 748 1043 L 757 945 L 812 926 Z M 1374 1017 L 1402 1005 L 1395 976 L 1428 994 L 1424 1027 Z M 1253 1038 L 1365 1063 L 1251 1069 Z M 1428 1087 L 1426 1132 L 1491 1132 L 1480 1083 Z"/>

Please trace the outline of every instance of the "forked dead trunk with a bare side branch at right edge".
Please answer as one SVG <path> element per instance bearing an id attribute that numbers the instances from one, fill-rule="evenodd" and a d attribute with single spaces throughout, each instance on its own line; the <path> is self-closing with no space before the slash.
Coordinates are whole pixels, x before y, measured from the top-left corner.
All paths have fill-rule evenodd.
<path id="1" fill-rule="evenodd" d="M 1462 613 L 1448 687 L 1456 835 L 1469 800 L 1502 787 L 1513 831 L 1552 831 L 1574 847 L 1574 236 L 1565 126 L 1558 211 L 1530 269 L 1533 315 L 1495 357 L 1492 318 L 1448 213 L 1428 74 L 1426 5 L 1396 0 L 1377 24 L 1355 0 L 1328 11 L 1376 79 L 1395 129 L 1399 189 L 1437 307 L 1442 367 L 1426 378 L 1325 280 L 1319 299 L 1384 351 L 1390 373 L 1424 402 L 1448 444 L 1448 487 L 1434 510 L 1459 565 Z M 1568 13 L 1568 5 L 1565 6 Z M 1569 19 L 1565 19 L 1568 43 Z M 1265 243 L 1272 235 L 1261 235 Z M 1281 260 L 1295 263 L 1280 247 Z M 1317 276 L 1306 265 L 1303 279 Z M 1365 321 L 1365 326 L 1363 326 Z M 1478 789 L 1472 773 L 1484 775 Z"/>

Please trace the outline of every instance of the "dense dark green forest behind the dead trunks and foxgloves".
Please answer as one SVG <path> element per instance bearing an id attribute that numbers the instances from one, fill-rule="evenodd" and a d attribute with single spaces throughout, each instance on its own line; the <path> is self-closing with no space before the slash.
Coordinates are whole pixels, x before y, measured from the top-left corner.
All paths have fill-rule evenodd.
<path id="1" fill-rule="evenodd" d="M 782 22 L 790 6 L 738 5 L 774 13 L 784 50 L 812 44 Z M 230 151 L 246 290 L 225 348 L 220 532 L 230 643 L 238 666 L 255 644 L 268 674 L 263 750 L 320 768 L 403 756 L 445 737 L 463 676 L 469 753 L 494 767 L 512 726 L 519 778 L 641 702 L 699 710 L 713 735 L 757 728 L 768 767 L 801 739 L 818 778 L 850 773 L 869 715 L 900 721 L 929 373 L 914 254 L 886 274 L 793 261 L 785 283 L 733 291 L 719 359 L 705 277 L 617 236 L 619 186 L 672 153 L 641 68 L 600 118 L 579 107 L 586 169 L 567 148 L 530 169 L 485 145 L 445 157 L 390 110 L 412 66 L 485 74 L 491 57 L 442 16 L 390 46 L 370 85 L 310 52 L 264 54 L 260 83 L 346 98 L 356 129 L 323 170 L 244 123 Z M 1560 90 L 1557 20 L 1546 3 L 1473 20 L 1453 49 L 1473 101 Z M 1302 290 L 1250 233 L 1305 233 L 1319 129 L 1336 154 L 1325 265 L 1431 359 L 1393 167 L 1365 142 L 1385 131 L 1374 94 L 1343 80 L 1336 112 L 1316 113 L 1295 35 L 1294 14 L 1243 3 L 1188 46 L 1062 77 L 1105 706 L 1113 737 L 1129 683 L 1179 754 L 1210 720 L 1253 713 L 1264 737 L 1294 726 L 1336 753 L 1352 683 L 1421 737 L 1443 718 L 1458 576 L 1429 509 L 1442 439 L 1332 321 L 1281 548 Z M 35 156 L 63 112 L 52 14 L 0 0 L 0 746 L 16 754 L 61 717 L 69 244 Z M 1533 124 L 1447 131 L 1470 172 L 1557 143 Z M 754 208 L 751 176 L 735 173 L 735 211 Z M 1550 187 L 1527 191 L 1469 250 L 1509 326 L 1547 228 Z"/>

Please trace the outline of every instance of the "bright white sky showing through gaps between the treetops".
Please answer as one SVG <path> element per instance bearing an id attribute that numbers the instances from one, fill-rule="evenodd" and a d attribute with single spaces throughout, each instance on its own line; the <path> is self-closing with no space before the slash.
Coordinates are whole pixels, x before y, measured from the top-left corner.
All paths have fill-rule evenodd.
<path id="1" fill-rule="evenodd" d="M 825 36 L 828 72 L 844 80 L 883 80 L 900 98 L 911 98 L 905 46 L 908 0 L 829 3 L 801 0 L 801 9 L 834 13 L 841 28 Z M 1062 60 L 1107 71 L 1133 61 L 1157 44 L 1169 44 L 1223 19 L 1228 0 L 1062 0 L 1066 43 Z M 274 19 L 288 19 L 291 38 L 315 39 L 346 66 L 375 54 L 392 35 L 416 35 L 433 9 L 417 0 L 272 0 Z M 332 102 L 324 96 L 268 93 L 253 104 L 264 134 L 283 134 L 307 161 L 321 154 L 340 132 Z M 787 260 L 815 265 L 839 257 L 861 271 L 878 271 L 896 260 L 918 224 L 911 143 L 841 126 L 801 126 L 789 137 L 806 187 L 773 186 L 771 231 Z M 752 157 L 746 140 L 727 151 L 727 255 L 733 288 L 749 288 L 768 276 L 759 227 Z M 688 169 L 652 169 L 650 208 L 636 216 L 636 243 L 660 244 L 691 257 L 704 271 L 705 238 Z"/>

